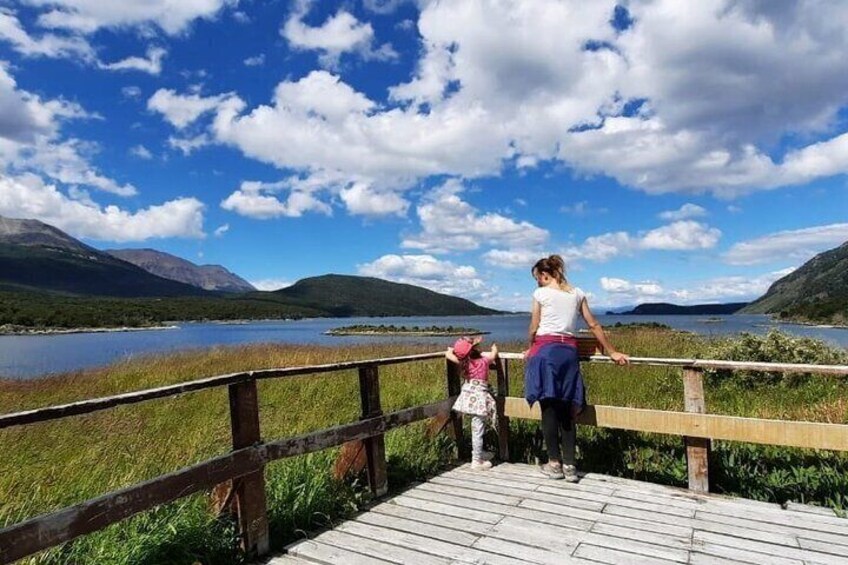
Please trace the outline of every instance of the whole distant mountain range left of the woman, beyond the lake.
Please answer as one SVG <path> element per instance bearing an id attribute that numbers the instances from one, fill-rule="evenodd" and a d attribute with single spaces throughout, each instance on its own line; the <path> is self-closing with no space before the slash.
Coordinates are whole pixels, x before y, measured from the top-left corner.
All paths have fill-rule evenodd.
<path id="1" fill-rule="evenodd" d="M 260 292 L 223 267 L 147 249 L 107 253 L 42 222 L 1 216 L 0 298 L 0 326 L 26 327 L 498 313 L 425 288 L 348 275 Z"/>

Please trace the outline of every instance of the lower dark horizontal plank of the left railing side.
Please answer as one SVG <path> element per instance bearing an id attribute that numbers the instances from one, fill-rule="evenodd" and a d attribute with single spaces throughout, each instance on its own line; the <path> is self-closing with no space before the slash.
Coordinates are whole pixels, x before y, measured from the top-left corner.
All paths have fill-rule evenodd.
<path id="1" fill-rule="evenodd" d="M 0 530 L 0 563 L 15 561 L 99 530 L 159 504 L 258 472 L 263 465 L 275 459 L 342 445 L 376 433 L 385 433 L 417 420 L 444 414 L 450 409 L 451 403 L 452 399 L 447 399 L 369 420 L 246 447 L 157 479 L 9 526 Z"/>

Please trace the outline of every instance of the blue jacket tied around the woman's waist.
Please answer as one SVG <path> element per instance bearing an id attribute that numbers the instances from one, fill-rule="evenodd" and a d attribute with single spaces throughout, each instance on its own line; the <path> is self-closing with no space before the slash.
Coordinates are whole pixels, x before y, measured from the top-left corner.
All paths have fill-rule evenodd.
<path id="1" fill-rule="evenodd" d="M 586 388 L 580 374 L 577 349 L 551 343 L 539 349 L 524 365 L 524 398 L 533 406 L 554 398 L 571 402 L 579 412 L 586 406 Z"/>

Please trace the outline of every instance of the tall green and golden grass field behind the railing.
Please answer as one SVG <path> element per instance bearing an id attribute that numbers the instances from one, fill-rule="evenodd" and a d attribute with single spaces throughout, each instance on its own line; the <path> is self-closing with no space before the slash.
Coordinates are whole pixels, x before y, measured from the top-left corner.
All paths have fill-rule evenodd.
<path id="1" fill-rule="evenodd" d="M 633 355 L 703 357 L 711 344 L 667 330 L 620 329 L 618 347 Z M 522 344 L 501 344 L 518 351 Z M 170 384 L 228 372 L 386 357 L 431 351 L 432 346 L 346 348 L 257 345 L 186 352 L 119 363 L 96 371 L 38 381 L 0 381 L 0 413 Z M 511 394 L 521 396 L 521 364 L 511 366 Z M 584 367 L 596 404 L 682 409 L 679 369 L 609 365 Z M 381 369 L 385 411 L 443 398 L 444 362 Z M 280 438 L 359 415 L 353 371 L 259 384 L 262 434 Z M 712 413 L 848 423 L 848 384 L 834 377 L 751 386 L 750 380 L 707 382 Z M 0 431 L 0 525 L 81 502 L 226 453 L 229 415 L 225 389 L 155 400 L 58 422 Z M 535 422 L 514 421 L 515 458 L 532 461 Z M 392 488 L 424 478 L 450 462 L 452 443 L 430 437 L 426 424 L 387 435 Z M 680 438 L 615 430 L 580 429 L 580 466 L 666 484 L 685 484 Z M 362 503 L 363 477 L 338 481 L 338 450 L 276 462 L 267 469 L 268 505 L 275 548 L 304 530 L 333 523 Z M 829 452 L 716 442 L 715 489 L 761 500 L 798 500 L 848 506 L 848 457 Z M 192 496 L 45 552 L 31 563 L 217 564 L 237 563 L 232 523 L 209 511 L 208 496 Z"/>

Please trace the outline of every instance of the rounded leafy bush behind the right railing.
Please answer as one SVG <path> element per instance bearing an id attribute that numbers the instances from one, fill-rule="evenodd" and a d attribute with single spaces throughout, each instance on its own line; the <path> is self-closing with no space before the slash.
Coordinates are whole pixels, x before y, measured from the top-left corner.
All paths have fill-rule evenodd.
<path id="1" fill-rule="evenodd" d="M 716 341 L 707 349 L 705 356 L 707 359 L 727 361 L 848 365 L 848 352 L 843 349 L 832 347 L 818 339 L 794 337 L 777 330 L 771 330 L 765 336 L 742 333 L 736 338 Z M 728 369 L 708 370 L 706 373 L 719 382 L 732 378 L 737 384 L 748 387 L 760 384 L 795 386 L 809 376 L 809 373 Z"/>

